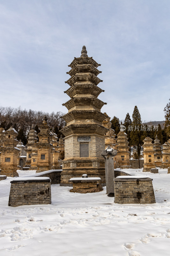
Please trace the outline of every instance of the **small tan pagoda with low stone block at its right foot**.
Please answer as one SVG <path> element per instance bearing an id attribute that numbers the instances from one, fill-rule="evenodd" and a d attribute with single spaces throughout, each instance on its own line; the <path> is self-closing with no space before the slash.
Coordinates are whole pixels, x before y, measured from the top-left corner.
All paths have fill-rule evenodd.
<path id="1" fill-rule="evenodd" d="M 154 162 L 154 150 L 152 139 L 150 137 L 146 137 L 143 145 L 143 155 L 144 155 L 144 169 L 143 172 L 151 172 L 151 169 L 155 169 Z"/>

